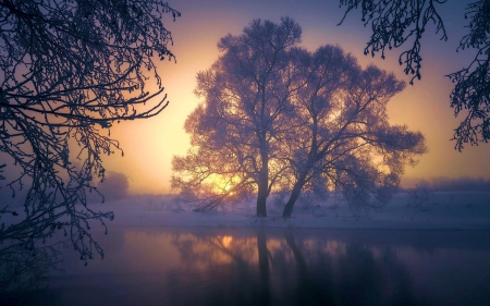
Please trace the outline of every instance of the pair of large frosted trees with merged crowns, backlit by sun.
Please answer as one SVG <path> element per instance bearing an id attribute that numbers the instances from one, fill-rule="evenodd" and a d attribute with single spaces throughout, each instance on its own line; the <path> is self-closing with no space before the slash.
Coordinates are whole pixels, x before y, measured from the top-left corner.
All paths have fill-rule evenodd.
<path id="1" fill-rule="evenodd" d="M 385 201 L 381 191 L 394 189 L 403 167 L 426 150 L 420 133 L 388 123 L 385 105 L 403 83 L 362 70 L 339 47 L 302 49 L 299 34 L 289 17 L 279 25 L 256 20 L 241 36 L 222 38 L 224 53 L 197 75 L 204 101 L 185 123 L 192 147 L 174 157 L 172 186 L 205 194 L 200 209 L 257 192 L 257 216 L 265 217 L 269 194 L 287 189 L 290 217 L 314 183 L 335 184 L 352 203 L 368 205 L 372 193 Z"/>

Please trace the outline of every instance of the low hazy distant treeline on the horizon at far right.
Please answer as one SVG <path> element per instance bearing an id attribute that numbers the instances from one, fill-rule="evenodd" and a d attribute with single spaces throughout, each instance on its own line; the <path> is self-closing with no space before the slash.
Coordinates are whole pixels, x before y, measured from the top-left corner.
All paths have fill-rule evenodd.
<path id="1" fill-rule="evenodd" d="M 428 188 L 433 192 L 490 192 L 490 179 L 474 178 L 434 178 L 421 180 L 417 187 Z"/>

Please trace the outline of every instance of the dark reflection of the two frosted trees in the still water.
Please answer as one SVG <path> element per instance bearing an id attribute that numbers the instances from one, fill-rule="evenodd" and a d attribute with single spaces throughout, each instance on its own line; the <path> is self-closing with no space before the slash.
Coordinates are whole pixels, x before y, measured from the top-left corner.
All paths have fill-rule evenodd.
<path id="1" fill-rule="evenodd" d="M 226 237 L 183 234 L 173 238 L 187 268 L 199 267 L 205 274 L 212 271 L 199 304 L 421 305 L 412 293 L 406 268 L 390 247 L 297 240 L 291 230 L 275 231 L 271 237 L 258 230 L 255 236 L 232 237 L 224 244 Z M 177 283 L 195 289 L 198 280 L 203 278 Z"/>

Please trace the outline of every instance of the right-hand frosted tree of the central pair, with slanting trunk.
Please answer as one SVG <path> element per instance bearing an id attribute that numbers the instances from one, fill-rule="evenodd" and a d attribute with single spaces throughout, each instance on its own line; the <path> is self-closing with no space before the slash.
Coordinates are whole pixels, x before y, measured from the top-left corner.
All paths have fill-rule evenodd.
<path id="1" fill-rule="evenodd" d="M 311 54 L 307 86 L 294 96 L 292 191 L 283 217 L 305 189 L 342 192 L 353 210 L 388 203 L 404 167 L 426 151 L 421 133 L 388 121 L 387 103 L 404 87 L 373 65 L 360 69 L 340 47 Z"/>

